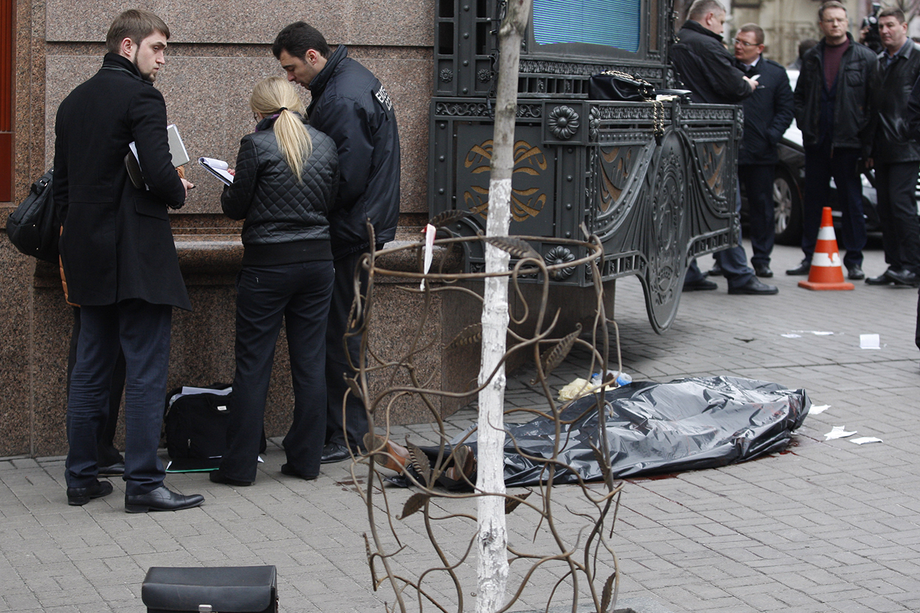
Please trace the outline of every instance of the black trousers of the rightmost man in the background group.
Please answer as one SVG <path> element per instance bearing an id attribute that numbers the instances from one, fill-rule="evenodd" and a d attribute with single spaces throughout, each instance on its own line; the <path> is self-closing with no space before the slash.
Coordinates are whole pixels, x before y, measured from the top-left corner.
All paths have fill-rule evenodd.
<path id="1" fill-rule="evenodd" d="M 920 162 L 875 165 L 881 245 L 894 270 L 920 274 L 920 222 L 914 197 Z"/>

